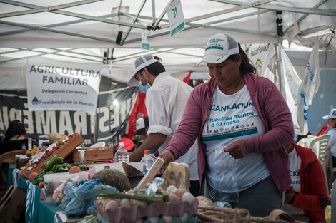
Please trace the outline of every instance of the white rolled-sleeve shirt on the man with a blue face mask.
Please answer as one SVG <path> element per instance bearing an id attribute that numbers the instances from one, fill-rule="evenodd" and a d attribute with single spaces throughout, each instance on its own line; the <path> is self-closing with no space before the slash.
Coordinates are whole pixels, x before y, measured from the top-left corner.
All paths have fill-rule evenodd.
<path id="1" fill-rule="evenodd" d="M 163 152 L 179 127 L 185 105 L 193 88 L 172 77 L 168 72 L 160 73 L 146 93 L 146 108 L 149 120 L 147 135 L 162 133 L 167 135 L 165 142 L 159 147 Z M 198 180 L 197 141 L 188 152 L 175 162 L 187 163 L 190 170 L 190 180 Z"/>

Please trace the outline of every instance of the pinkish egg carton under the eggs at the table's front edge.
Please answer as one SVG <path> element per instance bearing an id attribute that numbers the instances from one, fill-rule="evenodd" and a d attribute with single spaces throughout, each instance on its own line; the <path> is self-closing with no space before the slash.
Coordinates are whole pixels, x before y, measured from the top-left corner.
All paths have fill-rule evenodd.
<path id="1" fill-rule="evenodd" d="M 161 215 L 182 217 L 185 212 L 190 215 L 197 214 L 197 207 L 197 199 L 194 199 L 191 204 L 180 200 L 179 204 L 165 202 L 164 204 L 149 204 L 147 207 L 132 204 L 132 209 L 119 206 L 114 212 L 106 211 L 102 209 L 101 205 L 96 205 L 97 212 L 109 223 L 119 223 L 121 219 L 124 219 L 125 222 L 135 222 L 139 218 L 159 217 Z"/>

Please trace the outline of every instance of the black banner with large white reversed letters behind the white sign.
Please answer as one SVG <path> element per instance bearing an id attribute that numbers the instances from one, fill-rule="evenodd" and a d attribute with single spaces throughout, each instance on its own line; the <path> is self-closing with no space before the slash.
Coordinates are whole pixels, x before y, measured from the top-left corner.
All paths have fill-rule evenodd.
<path id="1" fill-rule="evenodd" d="M 102 76 L 96 115 L 84 111 L 57 110 L 29 112 L 26 91 L 0 91 L 0 135 L 4 137 L 11 120 L 20 120 L 32 138 L 49 133 L 79 133 L 84 144 L 112 142 L 124 135 L 137 95 L 137 88 L 114 83 Z M 66 100 L 66 98 L 64 98 Z"/>

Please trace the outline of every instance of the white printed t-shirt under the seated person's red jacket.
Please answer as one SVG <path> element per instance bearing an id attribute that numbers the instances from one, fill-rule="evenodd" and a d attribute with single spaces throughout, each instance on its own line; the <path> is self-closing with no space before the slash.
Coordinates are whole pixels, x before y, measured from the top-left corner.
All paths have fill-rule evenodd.
<path id="1" fill-rule="evenodd" d="M 293 187 L 293 190 L 295 192 L 300 193 L 301 182 L 300 182 L 299 170 L 301 167 L 301 157 L 297 155 L 297 150 L 295 148 L 288 155 L 290 155 L 290 178 L 292 180 L 292 183 L 290 184 L 290 186 Z M 303 209 L 299 207 L 294 207 L 290 204 L 284 204 L 284 207 L 282 209 L 288 214 L 292 214 L 292 215 L 305 214 Z"/>

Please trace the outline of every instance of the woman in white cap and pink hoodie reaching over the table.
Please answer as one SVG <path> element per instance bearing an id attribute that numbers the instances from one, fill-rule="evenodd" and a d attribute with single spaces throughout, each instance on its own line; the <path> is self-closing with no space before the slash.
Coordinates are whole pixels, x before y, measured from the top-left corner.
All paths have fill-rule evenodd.
<path id="1" fill-rule="evenodd" d="M 202 62 L 211 79 L 189 96 L 179 128 L 159 155 L 162 170 L 198 138 L 204 195 L 248 209 L 252 216 L 267 216 L 281 209 L 291 182 L 285 151 L 294 137 L 290 110 L 275 84 L 255 74 L 231 36 L 209 38 Z"/>

